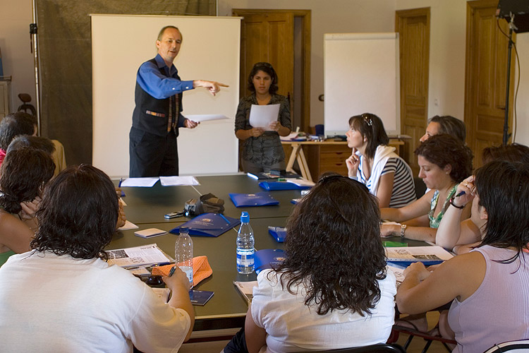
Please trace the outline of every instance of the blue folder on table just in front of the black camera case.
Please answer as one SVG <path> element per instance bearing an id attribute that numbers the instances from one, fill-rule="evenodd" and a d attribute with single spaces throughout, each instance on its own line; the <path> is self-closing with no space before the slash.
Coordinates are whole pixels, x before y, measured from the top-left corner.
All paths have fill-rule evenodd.
<path id="1" fill-rule="evenodd" d="M 229 223 L 226 222 L 224 218 L 226 218 Z M 218 213 L 203 213 L 202 215 L 198 215 L 197 217 L 193 218 L 193 220 L 171 229 L 170 233 L 180 234 L 181 227 L 188 227 L 190 235 L 200 235 L 202 237 L 219 237 L 219 235 L 225 233 L 229 229 L 241 224 L 241 221 L 236 218 L 228 216 L 224 216 L 224 218 Z"/>

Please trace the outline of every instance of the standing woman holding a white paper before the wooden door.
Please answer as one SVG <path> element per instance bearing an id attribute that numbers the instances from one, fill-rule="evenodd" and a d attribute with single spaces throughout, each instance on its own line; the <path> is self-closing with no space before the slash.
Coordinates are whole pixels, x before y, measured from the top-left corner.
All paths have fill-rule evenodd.
<path id="1" fill-rule="evenodd" d="M 291 131 L 290 104 L 283 95 L 276 95 L 277 74 L 271 64 L 260 62 L 253 66 L 248 76 L 248 90 L 253 94 L 239 102 L 235 117 L 235 136 L 243 141 L 243 170 L 260 173 L 285 169 L 285 152 L 279 136 L 287 136 Z M 252 104 L 280 104 L 277 121 L 270 124 L 272 131 L 250 125 Z"/>

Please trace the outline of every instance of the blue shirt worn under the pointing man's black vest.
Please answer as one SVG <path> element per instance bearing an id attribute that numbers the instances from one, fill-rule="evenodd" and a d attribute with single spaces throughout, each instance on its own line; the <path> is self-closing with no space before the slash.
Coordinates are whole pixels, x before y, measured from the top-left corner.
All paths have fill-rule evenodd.
<path id="1" fill-rule="evenodd" d="M 169 68 L 160 54 L 157 54 L 154 59 L 156 60 L 156 65 L 146 61 L 138 70 L 136 80 L 138 80 L 142 90 L 145 90 L 145 92 L 158 100 L 163 100 L 186 90 L 193 90 L 193 80 L 180 80 L 178 70 L 176 70 L 174 64 Z M 160 73 L 160 68 L 164 68 L 167 76 Z"/>

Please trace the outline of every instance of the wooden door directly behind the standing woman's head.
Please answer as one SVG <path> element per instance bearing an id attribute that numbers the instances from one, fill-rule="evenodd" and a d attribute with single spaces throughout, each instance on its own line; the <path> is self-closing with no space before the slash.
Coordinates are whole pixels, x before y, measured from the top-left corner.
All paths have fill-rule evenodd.
<path id="1" fill-rule="evenodd" d="M 278 76 L 278 93 L 285 96 L 290 93 L 292 96 L 293 48 L 294 16 L 292 13 L 245 14 L 241 28 L 241 97 L 250 94 L 246 88 L 248 75 L 253 65 L 259 61 L 267 61 L 274 66 Z"/>

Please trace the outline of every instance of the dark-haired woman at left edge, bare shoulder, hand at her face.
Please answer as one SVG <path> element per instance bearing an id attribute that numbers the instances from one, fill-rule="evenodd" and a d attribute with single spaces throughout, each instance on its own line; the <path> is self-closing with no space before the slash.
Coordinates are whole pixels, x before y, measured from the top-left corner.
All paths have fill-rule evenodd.
<path id="1" fill-rule="evenodd" d="M 54 169 L 47 152 L 22 148 L 6 155 L 0 167 L 0 266 L 30 249 L 37 229 L 34 211 Z"/>

